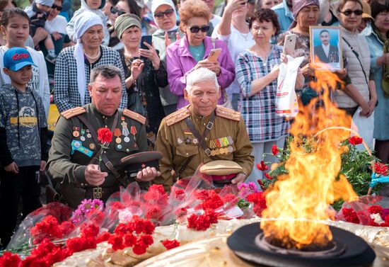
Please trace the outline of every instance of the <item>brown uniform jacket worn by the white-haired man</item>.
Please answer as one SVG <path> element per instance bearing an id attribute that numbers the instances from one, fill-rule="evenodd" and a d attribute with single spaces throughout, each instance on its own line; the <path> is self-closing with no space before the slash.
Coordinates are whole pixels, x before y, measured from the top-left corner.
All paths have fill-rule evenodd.
<path id="1" fill-rule="evenodd" d="M 243 168 L 246 176 L 250 175 L 254 157 L 251 155 L 252 145 L 240 113 L 221 106 L 217 106 L 215 112 L 214 126 L 205 140 L 208 147 L 214 157 L 235 161 Z M 212 161 L 194 140 L 194 135 L 185 123 L 187 117 L 190 117 L 194 127 L 202 135 L 210 116 L 198 116 L 190 106 L 168 115 L 162 120 L 158 130 L 156 150 L 163 153 L 163 159 L 159 161 L 161 176 L 153 182 L 162 184 L 166 190 L 170 190 L 173 185 L 170 171 L 178 173 L 188 157 L 195 155 L 180 177 L 192 176 L 199 164 Z"/>

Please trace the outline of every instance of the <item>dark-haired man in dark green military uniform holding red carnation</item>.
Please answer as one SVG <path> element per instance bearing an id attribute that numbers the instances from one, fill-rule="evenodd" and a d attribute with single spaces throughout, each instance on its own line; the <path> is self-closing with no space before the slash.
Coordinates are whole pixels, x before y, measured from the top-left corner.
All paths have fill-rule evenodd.
<path id="1" fill-rule="evenodd" d="M 59 182 L 62 198 L 72 208 L 83 198 L 107 200 L 120 186 L 126 186 L 131 179 L 125 177 L 120 159 L 148 150 L 146 119 L 130 110 L 117 109 L 122 96 L 120 69 L 96 67 L 88 90 L 91 103 L 61 113 L 47 162 L 48 173 Z M 113 133 L 112 142 L 105 144 L 108 148 L 103 151 L 96 134 L 101 127 Z M 146 186 L 157 175 L 159 172 L 148 166 L 132 179 Z"/>

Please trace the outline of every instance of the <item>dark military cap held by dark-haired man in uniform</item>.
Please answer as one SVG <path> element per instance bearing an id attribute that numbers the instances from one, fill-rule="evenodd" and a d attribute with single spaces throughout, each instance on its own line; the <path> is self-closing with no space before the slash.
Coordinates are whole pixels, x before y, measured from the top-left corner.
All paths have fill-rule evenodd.
<path id="1" fill-rule="evenodd" d="M 120 159 L 120 163 L 130 176 L 137 176 L 138 171 L 146 167 L 158 168 L 158 161 L 163 158 L 163 154 L 158 151 L 140 152 Z"/>

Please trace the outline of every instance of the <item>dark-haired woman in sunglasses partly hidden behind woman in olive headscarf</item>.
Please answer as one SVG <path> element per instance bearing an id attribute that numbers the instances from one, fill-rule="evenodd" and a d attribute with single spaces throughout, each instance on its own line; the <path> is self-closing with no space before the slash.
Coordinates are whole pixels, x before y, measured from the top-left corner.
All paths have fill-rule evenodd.
<path id="1" fill-rule="evenodd" d="M 112 27 L 108 29 L 110 32 L 110 43 L 108 46 L 115 50 L 121 50 L 123 49 L 124 45 L 122 42 L 120 42 L 119 38 L 117 38 L 115 27 L 113 27 L 113 25 L 115 25 L 116 18 L 123 14 L 134 14 L 140 18 L 141 11 L 135 0 L 120 0 L 115 6 L 111 6 L 110 12 L 110 21 L 112 23 Z"/>

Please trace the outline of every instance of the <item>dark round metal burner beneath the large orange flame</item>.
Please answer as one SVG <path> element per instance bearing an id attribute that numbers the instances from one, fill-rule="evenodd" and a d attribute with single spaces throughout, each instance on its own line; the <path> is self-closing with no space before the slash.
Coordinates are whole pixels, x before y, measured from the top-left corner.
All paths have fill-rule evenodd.
<path id="1" fill-rule="evenodd" d="M 373 263 L 376 254 L 360 237 L 337 227 L 331 227 L 332 244 L 323 250 L 302 251 L 284 249 L 270 244 L 260 229 L 260 223 L 245 225 L 228 237 L 228 247 L 245 261 L 271 267 L 365 267 Z"/>

